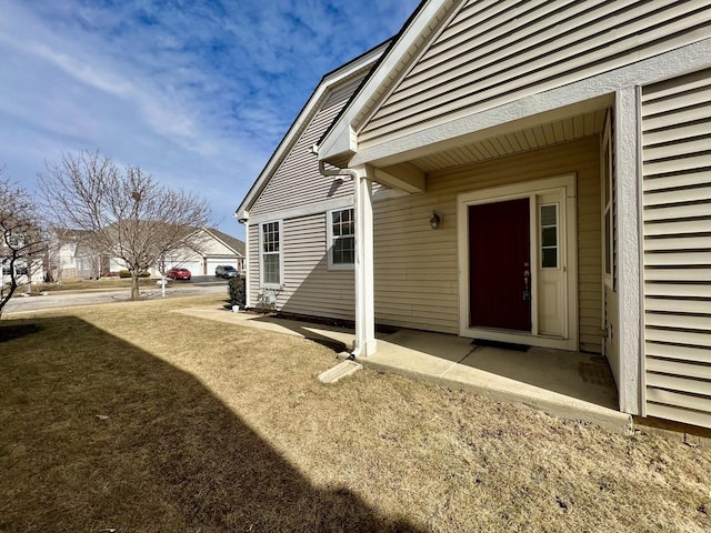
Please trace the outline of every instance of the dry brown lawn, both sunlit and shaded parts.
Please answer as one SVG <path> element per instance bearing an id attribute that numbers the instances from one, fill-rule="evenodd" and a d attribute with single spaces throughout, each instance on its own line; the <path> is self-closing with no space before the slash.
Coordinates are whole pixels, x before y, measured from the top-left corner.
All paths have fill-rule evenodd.
<path id="1" fill-rule="evenodd" d="M 0 322 L 1 532 L 711 531 L 709 449 L 369 370 L 323 385 L 332 351 L 169 312 L 198 302 Z"/>

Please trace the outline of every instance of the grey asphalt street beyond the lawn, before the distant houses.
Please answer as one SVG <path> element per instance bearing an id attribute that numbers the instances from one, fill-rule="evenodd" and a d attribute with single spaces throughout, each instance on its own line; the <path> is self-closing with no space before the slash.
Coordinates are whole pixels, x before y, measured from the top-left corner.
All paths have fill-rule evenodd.
<path id="1" fill-rule="evenodd" d="M 143 298 L 162 298 L 160 284 L 142 286 Z M 202 294 L 224 294 L 227 296 L 227 281 L 213 276 L 194 276 L 190 281 L 170 280 L 166 286 L 166 298 L 193 296 Z M 2 310 L 3 314 L 37 311 L 41 309 L 67 308 L 71 305 L 88 305 L 94 303 L 111 303 L 129 300 L 128 289 L 110 289 L 107 291 L 54 291 L 47 295 L 14 295 Z"/>

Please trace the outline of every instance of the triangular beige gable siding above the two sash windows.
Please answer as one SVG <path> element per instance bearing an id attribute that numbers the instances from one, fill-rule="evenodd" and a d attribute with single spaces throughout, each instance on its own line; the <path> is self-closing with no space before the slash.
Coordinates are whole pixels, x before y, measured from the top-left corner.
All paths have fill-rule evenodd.
<path id="1" fill-rule="evenodd" d="M 311 147 L 318 142 L 361 81 L 362 77 L 351 80 L 326 99 L 250 209 L 250 217 L 278 213 L 352 193 L 349 181 L 320 174 L 319 161 L 311 153 Z"/>

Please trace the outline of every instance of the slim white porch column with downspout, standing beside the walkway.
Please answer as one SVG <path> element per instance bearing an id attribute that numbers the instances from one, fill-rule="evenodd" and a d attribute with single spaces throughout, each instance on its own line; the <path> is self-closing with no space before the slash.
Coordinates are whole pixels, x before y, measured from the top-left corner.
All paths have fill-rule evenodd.
<path id="1" fill-rule="evenodd" d="M 373 202 L 372 177 L 358 168 L 353 179 L 356 218 L 356 351 L 357 356 L 375 353 L 373 302 Z"/>

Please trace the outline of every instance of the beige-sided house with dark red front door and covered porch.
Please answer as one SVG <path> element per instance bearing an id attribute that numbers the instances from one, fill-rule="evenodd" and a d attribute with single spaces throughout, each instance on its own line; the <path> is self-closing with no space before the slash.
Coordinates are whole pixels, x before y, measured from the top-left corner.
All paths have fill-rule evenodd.
<path id="1" fill-rule="evenodd" d="M 710 142 L 707 2 L 423 1 L 238 208 L 248 305 L 603 353 L 621 411 L 711 428 Z"/>

